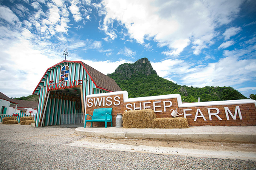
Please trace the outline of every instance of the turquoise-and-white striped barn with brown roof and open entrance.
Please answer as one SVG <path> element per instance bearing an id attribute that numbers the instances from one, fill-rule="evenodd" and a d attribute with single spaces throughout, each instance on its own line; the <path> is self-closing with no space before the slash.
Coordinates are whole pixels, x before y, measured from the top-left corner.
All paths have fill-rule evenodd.
<path id="1" fill-rule="evenodd" d="M 62 61 L 48 68 L 33 94 L 39 95 L 37 127 L 84 125 L 89 94 L 121 91 L 116 82 L 81 61 Z"/>

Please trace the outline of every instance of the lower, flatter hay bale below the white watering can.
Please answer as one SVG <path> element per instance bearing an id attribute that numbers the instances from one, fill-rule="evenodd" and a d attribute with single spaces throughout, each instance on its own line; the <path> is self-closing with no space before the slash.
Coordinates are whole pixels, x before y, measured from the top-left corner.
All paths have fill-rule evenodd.
<path id="1" fill-rule="evenodd" d="M 188 128 L 188 127 L 189 127 L 188 121 L 186 118 L 183 118 L 183 117 L 153 119 L 153 128 L 182 129 L 182 128 Z"/>

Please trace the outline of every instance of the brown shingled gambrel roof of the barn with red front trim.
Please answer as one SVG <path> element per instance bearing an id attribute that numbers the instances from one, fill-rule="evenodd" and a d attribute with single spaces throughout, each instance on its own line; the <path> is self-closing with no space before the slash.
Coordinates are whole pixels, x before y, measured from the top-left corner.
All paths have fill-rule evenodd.
<path id="1" fill-rule="evenodd" d="M 53 65 L 52 67 L 48 68 L 45 74 L 43 75 L 42 79 L 38 83 L 37 87 L 35 88 L 33 94 L 37 94 L 37 91 L 39 90 L 40 83 L 42 84 L 44 82 L 44 79 L 46 79 L 46 74 L 49 74 L 49 71 L 54 68 L 57 65 L 61 65 L 63 62 L 71 62 L 71 63 L 80 63 L 83 68 L 87 71 L 87 74 L 89 74 L 90 78 L 96 85 L 96 88 L 101 88 L 103 90 L 113 92 L 113 91 L 122 91 L 121 88 L 116 84 L 116 82 L 111 79 L 110 77 L 106 76 L 105 74 L 102 74 L 101 72 L 97 71 L 96 69 L 92 68 L 91 66 L 85 64 L 81 61 L 66 61 L 63 60 L 62 62 L 59 62 L 56 65 Z"/>

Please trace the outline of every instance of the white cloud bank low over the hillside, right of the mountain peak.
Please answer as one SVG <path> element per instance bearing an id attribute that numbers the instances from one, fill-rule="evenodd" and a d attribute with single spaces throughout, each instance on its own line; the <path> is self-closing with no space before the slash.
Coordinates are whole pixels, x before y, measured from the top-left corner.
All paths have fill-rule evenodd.
<path id="1" fill-rule="evenodd" d="M 161 62 L 151 62 L 151 65 L 160 77 L 179 79 L 177 83 L 180 85 L 239 86 L 255 81 L 256 59 L 255 57 L 244 59 L 244 56 L 251 55 L 253 51 L 256 51 L 256 45 L 242 50 L 224 51 L 225 58 L 207 65 L 195 66 L 198 63 L 181 59 L 165 59 Z M 205 59 L 215 59 L 215 57 L 206 56 Z"/>

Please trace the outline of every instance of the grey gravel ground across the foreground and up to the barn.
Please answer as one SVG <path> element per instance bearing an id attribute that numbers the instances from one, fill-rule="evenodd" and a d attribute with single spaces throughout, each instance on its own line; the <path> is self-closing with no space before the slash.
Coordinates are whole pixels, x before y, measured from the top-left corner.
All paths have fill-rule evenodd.
<path id="1" fill-rule="evenodd" d="M 0 124 L 1 170 L 251 169 L 255 161 L 97 150 L 65 144 L 86 138 L 74 128 Z"/>

